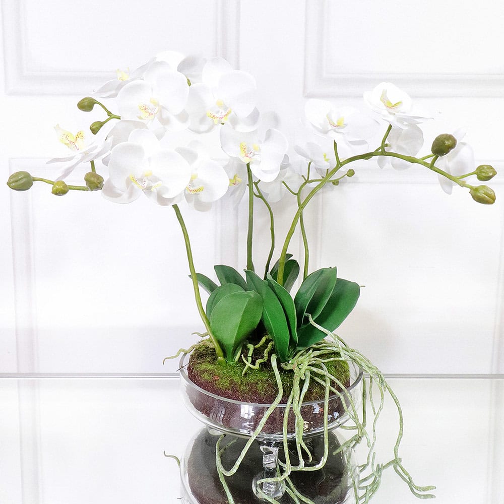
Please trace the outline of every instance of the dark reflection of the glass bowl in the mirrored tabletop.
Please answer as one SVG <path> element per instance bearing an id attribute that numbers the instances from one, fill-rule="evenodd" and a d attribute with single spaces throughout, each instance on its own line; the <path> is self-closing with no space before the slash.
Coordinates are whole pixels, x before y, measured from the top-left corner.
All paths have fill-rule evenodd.
<path id="1" fill-rule="evenodd" d="M 216 443 L 219 434 L 214 430 L 203 428 L 187 445 L 180 461 L 181 491 L 183 504 L 227 504 L 228 499 L 219 479 L 215 464 Z M 313 455 L 311 463 L 320 461 L 324 454 L 323 435 L 313 435 L 306 440 Z M 236 462 L 246 440 L 226 436 L 220 443 L 222 463 L 229 469 Z M 358 486 L 359 472 L 354 452 L 351 448 L 336 452 L 343 439 L 335 430 L 329 432 L 329 455 L 323 468 L 316 471 L 293 471 L 290 480 L 296 490 L 310 499 L 314 504 L 355 504 L 353 482 Z M 261 502 L 253 492 L 254 476 L 263 469 L 263 452 L 261 443 L 255 441 L 241 461 L 240 467 L 232 476 L 226 477 L 231 495 L 237 504 Z M 290 446 L 292 445 L 292 447 Z M 299 463 L 295 453 L 294 441 L 289 441 L 291 462 Z M 283 448 L 280 449 L 280 460 L 284 461 Z M 353 482 L 352 482 L 353 477 Z M 294 504 L 288 494 L 280 501 Z"/>

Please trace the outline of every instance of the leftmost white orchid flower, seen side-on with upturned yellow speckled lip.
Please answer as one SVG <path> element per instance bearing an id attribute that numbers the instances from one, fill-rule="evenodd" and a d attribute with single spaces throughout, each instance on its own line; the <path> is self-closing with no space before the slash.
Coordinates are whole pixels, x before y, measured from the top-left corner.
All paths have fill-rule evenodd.
<path id="1" fill-rule="evenodd" d="M 95 161 L 106 156 L 110 152 L 112 146 L 111 139 L 107 139 L 105 142 L 88 142 L 88 136 L 83 130 L 78 131 L 74 135 L 60 128 L 59 124 L 55 125 L 54 130 L 58 135 L 59 141 L 74 153 L 71 156 L 56 157 L 47 161 L 47 164 L 66 164 L 59 175 L 55 177 L 55 180 L 66 178 L 79 164 Z"/>

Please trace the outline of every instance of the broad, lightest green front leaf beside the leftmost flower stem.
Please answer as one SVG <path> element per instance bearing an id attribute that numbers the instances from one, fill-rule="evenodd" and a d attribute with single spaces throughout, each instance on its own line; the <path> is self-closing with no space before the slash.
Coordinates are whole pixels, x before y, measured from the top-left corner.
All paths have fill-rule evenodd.
<path id="1" fill-rule="evenodd" d="M 233 292 L 214 306 L 210 329 L 221 345 L 228 362 L 261 321 L 263 301 L 257 292 Z"/>

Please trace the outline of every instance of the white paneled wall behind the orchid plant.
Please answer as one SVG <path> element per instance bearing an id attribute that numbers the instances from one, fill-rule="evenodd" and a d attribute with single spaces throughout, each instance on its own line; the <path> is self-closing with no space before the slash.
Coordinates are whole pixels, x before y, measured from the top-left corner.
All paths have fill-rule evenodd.
<path id="1" fill-rule="evenodd" d="M 464 126 L 477 161 L 503 167 L 496 0 L 475 11 L 428 1 L 421 12 L 414 2 L 369 0 L 123 6 L 2 2 L 4 179 L 19 169 L 50 176 L 45 160 L 62 152 L 52 126 L 76 130 L 101 118 L 75 103 L 116 68 L 167 49 L 221 55 L 255 75 L 261 109 L 278 114 L 292 145 L 307 139 L 299 123 L 306 97 L 364 108 L 362 92 L 390 80 L 435 115 L 423 127 L 425 153 L 435 134 Z M 311 268 L 338 266 L 366 286 L 340 334 L 386 372 L 504 371 L 503 180 L 492 181 L 497 203 L 486 207 L 462 191 L 445 195 L 426 171 L 369 162 L 313 204 Z M 99 194 L 56 199 L 40 184 L 0 191 L 0 370 L 174 368 L 162 358 L 189 344 L 201 323 L 171 209 L 113 205 Z M 244 206 L 185 217 L 200 271 L 244 267 Z M 257 222 L 259 237 L 268 226 L 261 210 Z M 286 212 L 279 240 L 287 222 Z"/>

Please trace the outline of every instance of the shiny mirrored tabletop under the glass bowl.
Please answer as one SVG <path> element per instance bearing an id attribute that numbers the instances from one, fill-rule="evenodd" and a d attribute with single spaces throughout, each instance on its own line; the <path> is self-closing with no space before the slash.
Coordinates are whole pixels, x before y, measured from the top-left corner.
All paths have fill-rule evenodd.
<path id="1" fill-rule="evenodd" d="M 504 504 L 504 376 L 388 382 L 403 409 L 402 462 L 415 483 L 436 486 L 433 502 Z M 383 462 L 397 425 L 386 408 Z M 202 427 L 175 374 L 0 374 L 0 503 L 179 502 L 178 467 L 166 455 L 181 457 Z M 420 500 L 391 468 L 371 502 Z"/>

